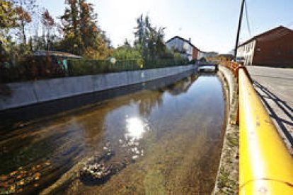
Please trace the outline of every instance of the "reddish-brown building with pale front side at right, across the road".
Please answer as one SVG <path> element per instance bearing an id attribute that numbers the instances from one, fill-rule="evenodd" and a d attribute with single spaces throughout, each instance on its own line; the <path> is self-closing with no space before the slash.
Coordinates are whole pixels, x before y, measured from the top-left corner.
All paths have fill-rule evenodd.
<path id="1" fill-rule="evenodd" d="M 279 26 L 243 42 L 237 57 L 244 64 L 267 66 L 293 66 L 293 30 Z"/>

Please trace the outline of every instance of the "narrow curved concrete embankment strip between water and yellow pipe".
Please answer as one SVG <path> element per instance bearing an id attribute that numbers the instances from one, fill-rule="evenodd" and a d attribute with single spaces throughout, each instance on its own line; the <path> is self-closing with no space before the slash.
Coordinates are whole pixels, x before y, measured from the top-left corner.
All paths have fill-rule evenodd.
<path id="1" fill-rule="evenodd" d="M 227 125 L 221 160 L 213 194 L 238 194 L 239 187 L 239 126 L 236 117 L 239 105 L 238 84 L 233 73 L 219 65 L 227 98 Z"/>

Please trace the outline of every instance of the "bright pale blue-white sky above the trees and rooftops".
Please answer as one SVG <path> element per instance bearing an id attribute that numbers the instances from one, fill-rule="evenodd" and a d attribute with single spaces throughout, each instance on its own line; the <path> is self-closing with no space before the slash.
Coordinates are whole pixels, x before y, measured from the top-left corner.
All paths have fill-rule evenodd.
<path id="1" fill-rule="evenodd" d="M 64 0 L 39 0 L 52 16 L 64 13 Z M 166 27 L 165 40 L 191 39 L 202 51 L 225 54 L 235 45 L 241 0 L 88 0 L 98 13 L 98 25 L 114 47 L 134 40 L 136 18 L 148 14 L 152 25 Z M 292 0 L 246 0 L 251 35 L 243 15 L 240 42 L 279 25 L 293 28 Z"/>

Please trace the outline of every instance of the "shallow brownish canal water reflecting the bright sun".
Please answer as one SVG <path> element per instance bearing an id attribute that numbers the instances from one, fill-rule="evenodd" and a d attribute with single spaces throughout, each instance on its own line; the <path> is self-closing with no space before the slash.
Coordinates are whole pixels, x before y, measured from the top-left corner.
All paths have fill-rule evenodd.
<path id="1" fill-rule="evenodd" d="M 192 73 L 83 112 L 19 124 L 0 137 L 0 192 L 210 194 L 225 113 L 217 74 Z"/>

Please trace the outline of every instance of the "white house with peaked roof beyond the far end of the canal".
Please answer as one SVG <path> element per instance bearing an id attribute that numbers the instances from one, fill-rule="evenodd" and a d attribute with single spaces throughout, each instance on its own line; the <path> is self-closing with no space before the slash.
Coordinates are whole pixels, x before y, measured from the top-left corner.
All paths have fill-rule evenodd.
<path id="1" fill-rule="evenodd" d="M 179 52 L 182 57 L 187 58 L 189 61 L 197 59 L 200 49 L 195 47 L 191 40 L 185 40 L 183 37 L 175 36 L 166 42 L 166 47 L 175 52 Z"/>

